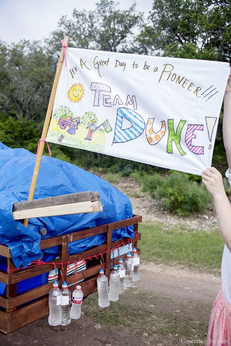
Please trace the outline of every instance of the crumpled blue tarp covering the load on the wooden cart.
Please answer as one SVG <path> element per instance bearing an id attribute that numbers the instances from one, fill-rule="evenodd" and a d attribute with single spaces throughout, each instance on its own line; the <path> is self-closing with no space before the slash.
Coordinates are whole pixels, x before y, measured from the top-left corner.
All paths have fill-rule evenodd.
<path id="1" fill-rule="evenodd" d="M 34 199 L 47 198 L 83 191 L 98 191 L 103 211 L 47 218 L 29 219 L 28 227 L 12 217 L 13 203 L 25 201 L 35 166 L 36 155 L 28 150 L 9 148 L 0 143 L 0 243 L 9 246 L 17 268 L 27 266 L 42 257 L 39 230 L 45 228 L 47 237 L 56 237 L 85 228 L 132 217 L 129 198 L 109 182 L 95 174 L 52 157 L 43 156 L 39 169 Z M 133 237 L 133 226 L 113 232 L 113 240 Z M 43 237 L 44 238 L 44 237 Z M 101 245 L 104 235 L 72 242 L 69 254 L 80 253 Z M 58 253 L 58 247 L 45 250 Z"/>

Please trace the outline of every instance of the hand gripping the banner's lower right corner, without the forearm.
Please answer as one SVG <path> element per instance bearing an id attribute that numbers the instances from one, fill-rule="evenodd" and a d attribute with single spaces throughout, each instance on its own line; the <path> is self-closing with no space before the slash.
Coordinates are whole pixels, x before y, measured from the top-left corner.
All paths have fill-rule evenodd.
<path id="1" fill-rule="evenodd" d="M 222 175 L 216 168 L 210 167 L 205 169 L 202 175 L 202 182 L 204 182 L 213 199 L 224 195 L 225 189 L 222 181 Z"/>

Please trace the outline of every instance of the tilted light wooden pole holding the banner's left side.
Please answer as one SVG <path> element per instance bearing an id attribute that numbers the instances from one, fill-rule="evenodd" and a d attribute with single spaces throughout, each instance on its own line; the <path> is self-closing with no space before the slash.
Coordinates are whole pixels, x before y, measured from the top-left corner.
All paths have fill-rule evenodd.
<path id="1" fill-rule="evenodd" d="M 64 36 L 64 44 L 68 45 L 68 42 L 69 42 L 69 36 Z M 46 138 L 48 128 L 50 125 L 52 110 L 53 110 L 54 101 L 55 101 L 55 95 L 56 95 L 56 91 L 57 91 L 57 87 L 58 87 L 58 80 L 59 80 L 59 76 L 61 73 L 63 61 L 64 61 L 64 49 L 62 48 L 60 56 L 59 56 L 59 60 L 58 60 L 56 75 L 55 75 L 55 79 L 54 79 L 54 83 L 53 83 L 53 87 L 52 87 L 52 91 L 51 91 L 51 96 L 50 96 L 50 100 L 49 100 L 49 104 L 48 104 L 48 108 L 47 108 L 47 112 L 46 112 L 46 117 L 45 117 L 43 129 L 42 129 L 42 135 L 41 135 L 42 139 Z M 37 182 L 37 178 L 38 178 L 38 174 L 39 174 L 39 167 L 40 167 L 40 163 L 41 163 L 41 159 L 42 159 L 42 153 L 43 153 L 44 145 L 45 145 L 44 141 L 41 141 L 39 143 L 39 150 L 38 150 L 37 157 L 36 157 L 36 163 L 35 163 L 34 173 L 32 176 L 28 200 L 33 200 L 33 197 L 34 197 L 35 187 L 36 187 L 36 182 Z M 27 227 L 27 224 L 28 224 L 28 219 L 24 219 L 23 225 Z"/>

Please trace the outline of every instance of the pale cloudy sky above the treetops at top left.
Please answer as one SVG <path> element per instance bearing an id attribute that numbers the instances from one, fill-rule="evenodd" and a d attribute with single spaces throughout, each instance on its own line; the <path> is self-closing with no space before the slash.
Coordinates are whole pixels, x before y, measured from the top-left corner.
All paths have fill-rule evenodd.
<path id="1" fill-rule="evenodd" d="M 72 15 L 73 9 L 94 10 L 97 0 L 0 0 L 0 39 L 19 42 L 20 39 L 42 39 L 57 29 L 58 19 Z M 120 0 L 127 9 L 134 0 Z M 136 8 L 148 15 L 153 0 L 136 0 Z M 68 35 L 68 33 L 67 33 Z"/>

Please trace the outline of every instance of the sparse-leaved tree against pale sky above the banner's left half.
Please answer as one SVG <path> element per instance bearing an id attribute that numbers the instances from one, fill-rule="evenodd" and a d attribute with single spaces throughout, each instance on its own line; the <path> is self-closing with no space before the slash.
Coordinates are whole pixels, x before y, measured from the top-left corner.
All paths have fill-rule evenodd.
<path id="1" fill-rule="evenodd" d="M 132 52 L 135 29 L 140 28 L 142 13 L 135 10 L 135 3 L 128 10 L 120 10 L 118 6 L 119 2 L 101 0 L 96 3 L 94 11 L 75 9 L 72 18 L 60 18 L 58 30 L 52 33 L 47 42 L 58 52 L 60 39 L 68 35 L 70 47 Z"/>

